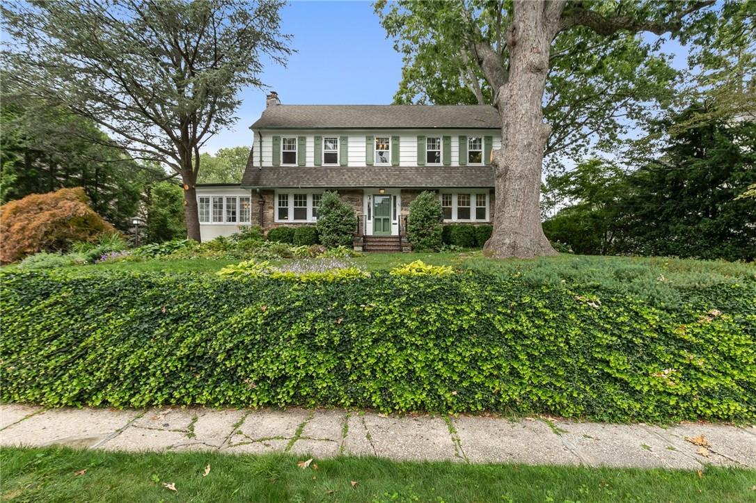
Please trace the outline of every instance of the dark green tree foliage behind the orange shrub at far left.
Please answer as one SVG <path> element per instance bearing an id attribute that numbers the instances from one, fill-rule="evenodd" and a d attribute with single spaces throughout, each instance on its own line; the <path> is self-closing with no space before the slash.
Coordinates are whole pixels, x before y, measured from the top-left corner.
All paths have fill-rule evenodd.
<path id="1" fill-rule="evenodd" d="M 91 143 L 87 137 L 100 137 Z M 63 187 L 82 187 L 91 207 L 125 230 L 151 181 L 166 177 L 135 162 L 91 121 L 51 103 L 18 100 L 0 110 L 0 202 Z"/>

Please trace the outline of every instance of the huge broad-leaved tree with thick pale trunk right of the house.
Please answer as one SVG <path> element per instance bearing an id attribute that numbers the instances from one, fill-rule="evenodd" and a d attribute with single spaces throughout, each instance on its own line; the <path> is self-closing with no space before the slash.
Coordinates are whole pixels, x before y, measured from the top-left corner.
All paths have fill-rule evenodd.
<path id="1" fill-rule="evenodd" d="M 414 54 L 407 49 L 411 44 L 426 48 L 430 41 L 438 42 L 447 53 L 460 54 L 457 60 L 488 82 L 491 104 L 502 122 L 502 145 L 492 160 L 496 209 L 485 249 L 500 258 L 527 258 L 556 254 L 544 235 L 538 207 L 544 153 L 556 146 L 564 152 L 600 131 L 603 118 L 640 101 L 635 93 L 643 88 L 624 86 L 621 91 L 627 94 L 615 96 L 613 79 L 643 82 L 644 75 L 674 75 L 658 58 L 648 56 L 649 46 L 634 34 L 679 35 L 712 4 L 404 0 L 387 12 L 386 2 L 377 2 L 376 10 L 389 35 L 406 41 L 405 54 Z M 612 57 L 594 57 L 603 53 Z M 664 81 L 647 80 L 653 90 Z M 559 128 L 544 122 L 544 110 L 557 118 Z M 637 113 L 637 108 L 628 110 Z M 615 124 L 609 125 L 605 140 L 623 131 L 619 119 Z"/>

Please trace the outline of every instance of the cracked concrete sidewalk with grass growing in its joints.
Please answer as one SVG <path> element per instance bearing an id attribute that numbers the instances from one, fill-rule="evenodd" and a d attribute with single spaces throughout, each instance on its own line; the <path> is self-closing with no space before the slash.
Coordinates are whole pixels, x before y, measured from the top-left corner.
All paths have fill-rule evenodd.
<path id="1" fill-rule="evenodd" d="M 0 445 L 124 451 L 293 452 L 316 458 L 756 468 L 756 425 L 599 424 L 547 418 L 386 416 L 342 409 L 42 409 L 0 405 Z"/>

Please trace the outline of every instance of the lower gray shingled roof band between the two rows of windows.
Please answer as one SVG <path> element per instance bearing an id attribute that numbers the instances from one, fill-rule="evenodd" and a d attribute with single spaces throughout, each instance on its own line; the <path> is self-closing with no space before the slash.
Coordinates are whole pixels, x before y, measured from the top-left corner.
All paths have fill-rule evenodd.
<path id="1" fill-rule="evenodd" d="M 244 188 L 494 187 L 491 166 L 264 166 L 247 165 Z"/>

